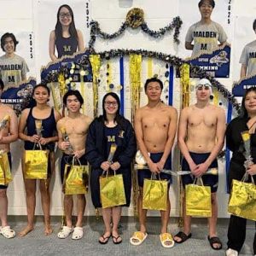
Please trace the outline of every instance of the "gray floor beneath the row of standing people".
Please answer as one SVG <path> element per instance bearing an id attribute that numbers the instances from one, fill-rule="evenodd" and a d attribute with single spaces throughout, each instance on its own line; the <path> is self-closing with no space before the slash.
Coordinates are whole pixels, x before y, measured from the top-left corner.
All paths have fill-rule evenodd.
<path id="1" fill-rule="evenodd" d="M 207 224 L 201 219 L 196 219 L 192 227 L 192 238 L 183 244 L 175 245 L 172 249 L 166 249 L 160 246 L 159 230 L 160 218 L 148 219 L 148 238 L 139 246 L 131 246 L 129 238 L 137 229 L 136 220 L 134 218 L 123 218 L 121 222 L 120 233 L 123 242 L 114 245 L 110 240 L 107 245 L 98 243 L 98 236 L 102 233 L 102 220 L 90 218 L 85 221 L 84 237 L 80 241 L 73 241 L 71 236 L 65 240 L 57 238 L 56 234 L 61 224 L 53 223 L 54 233 L 52 236 L 44 236 L 44 225 L 41 221 L 36 224 L 35 230 L 24 238 L 15 237 L 14 239 L 4 239 L 0 236 L 0 255 L 224 255 L 226 248 L 226 232 L 227 220 L 219 220 L 218 235 L 224 242 L 224 249 L 221 251 L 213 251 L 207 241 Z M 61 218 L 60 222 L 61 222 Z M 12 224 L 12 227 L 18 232 L 25 223 L 19 222 Z M 170 224 L 172 234 L 178 231 L 177 224 Z M 254 225 L 247 225 L 247 241 L 242 248 L 240 255 L 253 254 L 253 236 Z"/>

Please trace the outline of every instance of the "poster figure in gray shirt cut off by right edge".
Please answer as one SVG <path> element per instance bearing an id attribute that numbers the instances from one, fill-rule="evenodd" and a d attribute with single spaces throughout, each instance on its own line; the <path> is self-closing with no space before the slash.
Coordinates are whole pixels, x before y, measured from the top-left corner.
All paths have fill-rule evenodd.
<path id="1" fill-rule="evenodd" d="M 253 21 L 253 31 L 256 33 L 256 20 Z M 242 49 L 239 63 L 241 63 L 241 79 L 256 74 L 256 40 Z"/>

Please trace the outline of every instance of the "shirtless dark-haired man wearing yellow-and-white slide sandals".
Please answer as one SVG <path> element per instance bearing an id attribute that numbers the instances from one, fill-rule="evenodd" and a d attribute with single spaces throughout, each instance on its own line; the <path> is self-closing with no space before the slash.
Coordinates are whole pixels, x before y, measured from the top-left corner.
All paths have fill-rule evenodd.
<path id="1" fill-rule="evenodd" d="M 144 86 L 148 96 L 148 104 L 139 108 L 135 115 L 135 132 L 138 147 L 148 164 L 148 170 L 138 170 L 139 199 L 138 211 L 140 231 L 135 232 L 130 241 L 133 245 L 140 245 L 148 236 L 146 229 L 147 210 L 143 209 L 143 180 L 150 178 L 151 174 L 160 174 L 161 179 L 167 179 L 172 183 L 172 176 L 161 173 L 165 169 L 172 169 L 170 156 L 173 141 L 177 130 L 177 110 L 166 106 L 160 100 L 163 83 L 160 79 L 148 79 Z M 150 156 L 148 156 L 150 153 Z M 172 235 L 167 232 L 170 218 L 171 204 L 169 193 L 167 197 L 166 211 L 160 211 L 161 230 L 160 241 L 164 247 L 173 247 Z"/>

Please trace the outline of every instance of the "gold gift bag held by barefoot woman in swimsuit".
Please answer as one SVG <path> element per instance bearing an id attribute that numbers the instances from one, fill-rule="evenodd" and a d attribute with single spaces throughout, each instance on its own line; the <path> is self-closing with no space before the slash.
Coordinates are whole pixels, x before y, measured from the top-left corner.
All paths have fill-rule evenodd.
<path id="1" fill-rule="evenodd" d="M 48 174 L 48 150 L 25 150 L 25 178 L 47 179 Z"/>

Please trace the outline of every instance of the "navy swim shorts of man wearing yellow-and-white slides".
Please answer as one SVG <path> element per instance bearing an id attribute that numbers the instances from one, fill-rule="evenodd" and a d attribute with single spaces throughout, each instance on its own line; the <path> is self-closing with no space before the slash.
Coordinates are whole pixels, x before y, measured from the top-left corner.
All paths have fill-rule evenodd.
<path id="1" fill-rule="evenodd" d="M 163 153 L 150 153 L 150 159 L 157 163 L 160 161 Z M 172 158 L 171 155 L 167 158 L 164 169 L 172 170 Z M 137 181 L 139 187 L 143 188 L 144 178 L 151 178 L 152 172 L 148 169 L 137 170 Z M 168 186 L 172 184 L 172 175 L 166 173 L 160 173 L 160 179 L 165 179 L 168 181 Z"/>

